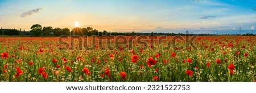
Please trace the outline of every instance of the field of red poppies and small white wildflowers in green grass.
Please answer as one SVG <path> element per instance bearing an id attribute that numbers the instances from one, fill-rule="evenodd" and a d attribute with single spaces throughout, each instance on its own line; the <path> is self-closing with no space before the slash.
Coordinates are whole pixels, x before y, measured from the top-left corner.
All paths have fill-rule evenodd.
<path id="1" fill-rule="evenodd" d="M 0 81 L 256 81 L 256 37 L 198 36 L 190 42 L 195 47 L 173 38 L 96 41 L 86 50 L 79 39 L 0 37 Z"/>

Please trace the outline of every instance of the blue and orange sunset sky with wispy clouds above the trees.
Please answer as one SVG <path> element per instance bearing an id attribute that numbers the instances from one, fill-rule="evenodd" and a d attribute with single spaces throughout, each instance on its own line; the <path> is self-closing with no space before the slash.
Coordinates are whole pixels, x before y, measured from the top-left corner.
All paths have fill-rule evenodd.
<path id="1" fill-rule="evenodd" d="M 0 27 L 88 26 L 110 32 L 251 33 L 253 0 L 0 0 Z M 256 32 L 255 32 L 256 33 Z"/>

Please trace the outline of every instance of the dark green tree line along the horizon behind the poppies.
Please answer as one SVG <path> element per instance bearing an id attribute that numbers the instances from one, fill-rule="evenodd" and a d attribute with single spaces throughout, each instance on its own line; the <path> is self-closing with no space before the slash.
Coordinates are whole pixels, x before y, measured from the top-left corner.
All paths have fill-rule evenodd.
<path id="1" fill-rule="evenodd" d="M 30 36 L 185 36 L 183 33 L 135 33 L 135 32 L 108 32 L 104 30 L 100 32 L 92 27 L 87 28 L 74 28 L 69 30 L 68 28 L 52 28 L 51 26 L 44 26 L 40 24 L 34 24 L 30 28 Z M 5 36 L 18 36 L 20 31 L 17 29 L 0 29 L 0 34 Z M 24 35 L 24 34 L 23 34 Z M 27 35 L 27 34 L 25 34 Z M 216 34 L 189 34 L 190 36 L 217 36 Z M 254 36 L 254 34 L 218 34 L 221 36 Z"/>

